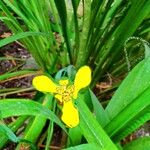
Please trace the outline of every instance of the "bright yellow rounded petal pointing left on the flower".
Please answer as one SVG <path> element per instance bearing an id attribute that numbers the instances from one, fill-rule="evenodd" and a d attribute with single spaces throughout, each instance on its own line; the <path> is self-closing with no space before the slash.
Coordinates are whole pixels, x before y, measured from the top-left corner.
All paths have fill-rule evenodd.
<path id="1" fill-rule="evenodd" d="M 33 86 L 41 92 L 55 93 L 57 85 L 47 76 L 41 75 L 33 78 Z"/>

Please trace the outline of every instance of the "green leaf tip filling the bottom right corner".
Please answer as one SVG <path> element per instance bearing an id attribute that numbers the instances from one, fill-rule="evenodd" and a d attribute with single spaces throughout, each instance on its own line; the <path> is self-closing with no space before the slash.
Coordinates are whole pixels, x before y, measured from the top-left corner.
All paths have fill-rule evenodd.
<path id="1" fill-rule="evenodd" d="M 130 142 L 123 147 L 123 150 L 149 150 L 150 137 L 143 137 Z"/>

